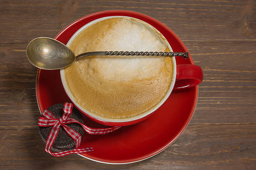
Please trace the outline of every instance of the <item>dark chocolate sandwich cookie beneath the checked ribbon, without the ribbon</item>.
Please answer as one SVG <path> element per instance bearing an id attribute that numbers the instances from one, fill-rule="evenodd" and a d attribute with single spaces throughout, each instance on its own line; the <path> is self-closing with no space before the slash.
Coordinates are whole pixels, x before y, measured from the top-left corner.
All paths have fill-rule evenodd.
<path id="1" fill-rule="evenodd" d="M 52 105 L 51 107 L 48 107 L 47 110 L 49 110 L 57 118 L 60 118 L 63 115 L 63 107 L 64 107 L 64 103 L 61 103 L 61 104 Z M 81 113 L 74 106 L 73 106 L 70 118 L 73 118 L 82 124 L 84 123 Z M 83 138 L 84 129 L 82 128 L 81 125 L 79 125 L 78 123 L 70 123 L 65 125 L 77 131 L 77 133 L 79 133 Z M 49 127 L 38 126 L 39 133 L 41 135 L 41 138 L 44 140 L 44 143 L 46 143 L 46 140 L 49 136 L 51 128 L 52 126 L 49 126 Z M 55 151 L 73 150 L 75 146 L 76 146 L 76 142 L 67 134 L 64 128 L 60 126 L 59 133 L 57 134 L 57 137 L 54 140 L 54 143 L 51 149 Z"/>

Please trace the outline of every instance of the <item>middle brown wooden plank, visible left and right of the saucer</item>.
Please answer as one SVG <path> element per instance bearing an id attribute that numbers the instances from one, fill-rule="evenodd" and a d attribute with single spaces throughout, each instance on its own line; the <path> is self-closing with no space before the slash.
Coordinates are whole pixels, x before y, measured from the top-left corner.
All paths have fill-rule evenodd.
<path id="1" fill-rule="evenodd" d="M 0 129 L 36 127 L 37 69 L 26 58 L 26 45 L 0 45 Z M 185 42 L 185 45 L 204 72 L 190 125 L 255 123 L 256 43 Z M 222 48 L 225 53 L 216 54 Z M 237 67 L 241 62 L 241 67 Z"/>

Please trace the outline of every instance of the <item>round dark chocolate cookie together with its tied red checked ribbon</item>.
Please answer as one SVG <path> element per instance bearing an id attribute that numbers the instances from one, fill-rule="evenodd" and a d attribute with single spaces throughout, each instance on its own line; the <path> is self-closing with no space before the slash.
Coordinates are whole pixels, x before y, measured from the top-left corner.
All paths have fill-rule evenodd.
<path id="1" fill-rule="evenodd" d="M 82 116 L 73 104 L 67 102 L 49 107 L 41 116 L 38 117 L 38 128 L 45 142 L 44 149 L 55 157 L 92 152 L 92 147 L 78 149 L 84 131 L 91 135 L 104 135 L 120 128 L 90 128 L 83 124 Z M 51 148 L 60 152 L 52 153 Z"/>

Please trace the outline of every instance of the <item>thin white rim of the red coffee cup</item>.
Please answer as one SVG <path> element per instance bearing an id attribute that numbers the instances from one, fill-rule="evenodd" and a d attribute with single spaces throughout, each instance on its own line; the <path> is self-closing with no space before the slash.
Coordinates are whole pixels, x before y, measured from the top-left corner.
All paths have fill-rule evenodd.
<path id="1" fill-rule="evenodd" d="M 95 23 L 97 23 L 100 20 L 105 20 L 108 18 L 130 18 L 130 19 L 135 19 L 139 22 L 142 22 L 143 24 L 148 25 L 149 27 L 153 28 L 154 30 L 156 30 L 162 37 L 164 37 L 164 35 L 162 35 L 162 33 L 157 30 L 156 28 L 154 28 L 154 26 L 150 25 L 149 23 L 147 23 L 146 21 L 140 20 L 138 18 L 134 18 L 134 17 L 129 17 L 129 16 L 124 16 L 124 15 L 113 15 L 113 16 L 107 16 L 107 17 L 102 17 L 102 18 L 97 18 L 95 20 L 92 20 L 91 22 L 83 25 L 81 28 L 79 28 L 73 35 L 72 37 L 70 37 L 69 41 L 67 42 L 67 46 L 72 42 L 72 40 L 74 39 L 74 37 L 79 34 L 79 32 L 81 32 L 84 28 L 87 28 L 90 25 L 93 25 Z M 169 42 L 166 40 L 166 37 L 164 37 L 164 41 L 166 42 L 166 44 L 168 45 L 169 49 L 171 51 L 172 47 L 170 46 Z M 151 109 L 147 110 L 146 112 L 143 112 L 137 116 L 134 117 L 129 117 L 129 118 L 124 118 L 124 119 L 112 119 L 112 118 L 106 118 L 106 117 L 101 117 L 96 115 L 95 113 L 90 112 L 89 110 L 84 109 L 83 107 L 81 107 L 76 100 L 74 99 L 74 96 L 72 95 L 72 93 L 69 91 L 69 89 L 67 88 L 67 83 L 66 83 L 66 79 L 65 79 L 65 75 L 64 75 L 64 68 L 60 69 L 60 77 L 61 77 L 61 83 L 62 86 L 64 88 L 64 91 L 66 92 L 67 96 L 69 97 L 69 99 L 73 102 L 73 104 L 85 115 L 89 116 L 92 119 L 96 119 L 98 121 L 101 122 L 109 122 L 109 123 L 127 123 L 127 122 L 134 122 L 136 120 L 140 120 L 142 118 L 145 118 L 149 115 L 151 115 L 154 111 L 156 111 L 169 97 L 169 95 L 172 93 L 172 90 L 174 88 L 174 84 L 176 81 L 176 73 L 177 73 L 177 68 L 176 68 L 176 60 L 175 57 L 172 57 L 172 61 L 173 61 L 173 76 L 172 76 L 172 81 L 169 85 L 169 88 L 167 90 L 167 92 L 165 93 L 164 97 L 154 106 L 151 107 Z"/>

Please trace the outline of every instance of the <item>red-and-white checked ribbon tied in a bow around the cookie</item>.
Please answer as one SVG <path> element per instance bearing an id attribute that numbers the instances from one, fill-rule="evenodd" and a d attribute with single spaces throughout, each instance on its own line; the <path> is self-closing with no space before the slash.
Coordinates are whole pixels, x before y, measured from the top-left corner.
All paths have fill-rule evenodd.
<path id="1" fill-rule="evenodd" d="M 77 149 L 81 144 L 82 137 L 79 133 L 77 133 L 77 131 L 73 130 L 72 128 L 69 128 L 65 124 L 79 123 L 87 133 L 92 135 L 104 135 L 106 133 L 113 132 L 120 128 L 119 126 L 115 126 L 112 128 L 89 128 L 88 126 L 78 122 L 77 120 L 69 118 L 69 116 L 71 115 L 72 109 L 73 109 L 73 104 L 66 102 L 64 104 L 64 108 L 63 108 L 64 112 L 61 118 L 58 119 L 55 115 L 49 112 L 49 110 L 44 110 L 44 112 L 42 113 L 43 117 L 38 117 L 38 126 L 44 126 L 44 127 L 52 126 L 49 136 L 45 143 L 45 150 L 46 152 L 50 153 L 55 157 L 61 157 L 61 156 L 69 155 L 72 153 L 89 153 L 93 151 L 93 148 Z M 69 134 L 69 136 L 73 138 L 74 141 L 76 141 L 76 147 L 74 150 L 51 153 L 51 147 L 54 143 L 56 136 L 59 133 L 60 126 L 62 126 L 64 130 Z"/>

